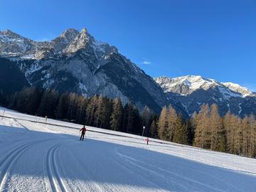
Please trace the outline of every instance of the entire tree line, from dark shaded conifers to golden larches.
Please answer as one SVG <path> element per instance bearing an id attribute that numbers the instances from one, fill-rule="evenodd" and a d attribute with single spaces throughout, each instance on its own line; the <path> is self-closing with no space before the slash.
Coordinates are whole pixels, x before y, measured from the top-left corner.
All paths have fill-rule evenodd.
<path id="1" fill-rule="evenodd" d="M 187 144 L 213 151 L 242 156 L 256 156 L 256 120 L 238 117 L 228 112 L 220 117 L 218 106 L 201 106 L 190 119 L 183 119 L 174 107 L 163 107 L 154 114 L 149 107 L 139 112 L 131 102 L 102 95 L 90 98 L 75 93 L 59 94 L 55 90 L 26 87 L 6 102 L 7 107 L 27 114 L 48 116 L 92 127 L 119 132 L 142 134 L 178 144 Z"/>

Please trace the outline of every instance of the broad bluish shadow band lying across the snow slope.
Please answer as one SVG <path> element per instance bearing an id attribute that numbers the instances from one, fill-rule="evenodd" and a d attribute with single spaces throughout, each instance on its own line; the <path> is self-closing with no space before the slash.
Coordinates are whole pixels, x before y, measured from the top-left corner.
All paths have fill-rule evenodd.
<path id="1" fill-rule="evenodd" d="M 1 126 L 0 178 L 8 166 L 11 175 L 32 177 L 50 177 L 51 167 L 53 173 L 58 170 L 56 177 L 78 186 L 91 185 L 96 191 L 95 183 L 100 183 L 103 191 L 120 191 L 124 186 L 126 190 L 144 188 L 145 191 L 146 188 L 152 191 L 255 191 L 256 188 L 255 175 L 86 136 L 83 142 L 79 139 L 69 134 Z"/>

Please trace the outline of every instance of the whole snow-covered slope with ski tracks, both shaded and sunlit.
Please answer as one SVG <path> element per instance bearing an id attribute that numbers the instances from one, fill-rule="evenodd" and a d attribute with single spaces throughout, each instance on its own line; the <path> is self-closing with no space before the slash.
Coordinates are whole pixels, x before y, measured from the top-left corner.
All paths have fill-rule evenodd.
<path id="1" fill-rule="evenodd" d="M 0 109 L 0 115 L 3 114 Z M 6 110 L 0 191 L 255 191 L 256 160 Z"/>

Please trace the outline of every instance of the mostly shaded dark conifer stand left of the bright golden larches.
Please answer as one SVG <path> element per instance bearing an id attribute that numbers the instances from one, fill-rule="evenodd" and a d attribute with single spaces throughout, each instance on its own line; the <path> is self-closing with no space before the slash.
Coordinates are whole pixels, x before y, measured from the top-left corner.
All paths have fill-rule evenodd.
<path id="1" fill-rule="evenodd" d="M 102 95 L 87 98 L 76 93 L 59 94 L 55 90 L 36 87 L 25 87 L 15 92 L 6 102 L 6 107 L 26 114 L 132 134 L 141 134 L 143 125 L 150 126 L 155 118 L 148 107 L 139 113 L 131 102 L 123 106 L 120 99 Z"/>

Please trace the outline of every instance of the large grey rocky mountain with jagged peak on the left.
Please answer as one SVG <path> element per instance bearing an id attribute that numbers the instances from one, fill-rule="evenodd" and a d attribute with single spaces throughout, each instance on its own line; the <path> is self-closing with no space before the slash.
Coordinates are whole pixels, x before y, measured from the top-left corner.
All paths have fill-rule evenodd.
<path id="1" fill-rule="evenodd" d="M 119 97 L 124 104 L 134 102 L 139 109 L 148 106 L 154 112 L 168 103 L 153 78 L 116 47 L 97 41 L 85 28 L 68 29 L 52 41 L 41 42 L 10 30 L 0 31 L 0 58 L 15 63 L 18 73 L 26 78 L 23 86 L 77 92 L 87 97 Z"/>

